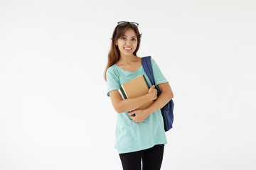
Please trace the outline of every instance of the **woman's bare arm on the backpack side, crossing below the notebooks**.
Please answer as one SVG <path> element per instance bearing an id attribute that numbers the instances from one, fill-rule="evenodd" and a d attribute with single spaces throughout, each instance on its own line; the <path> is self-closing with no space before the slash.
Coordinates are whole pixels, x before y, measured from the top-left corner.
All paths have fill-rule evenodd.
<path id="1" fill-rule="evenodd" d="M 136 110 L 129 113 L 130 118 L 134 120 L 135 123 L 142 123 L 147 116 L 151 113 L 158 111 L 159 109 L 163 108 L 166 103 L 171 101 L 171 98 L 174 98 L 174 94 L 171 90 L 171 86 L 169 83 L 159 84 L 159 89 L 161 89 L 160 96 L 154 101 L 154 103 L 144 110 Z M 135 116 L 132 116 L 134 115 Z"/>

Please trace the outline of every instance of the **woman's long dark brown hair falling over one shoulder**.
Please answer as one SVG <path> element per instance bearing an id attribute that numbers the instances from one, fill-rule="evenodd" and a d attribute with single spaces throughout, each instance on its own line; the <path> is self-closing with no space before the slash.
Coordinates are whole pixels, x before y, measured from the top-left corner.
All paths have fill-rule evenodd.
<path id="1" fill-rule="evenodd" d="M 111 38 L 112 43 L 111 43 L 110 52 L 108 54 L 107 67 L 104 73 L 104 78 L 106 81 L 107 81 L 107 78 L 106 78 L 107 69 L 110 68 L 112 65 L 116 64 L 120 59 L 120 51 L 118 47 L 115 45 L 115 42 L 124 35 L 125 31 L 128 28 L 131 28 L 132 30 L 134 30 L 137 36 L 137 48 L 133 53 L 135 56 L 137 56 L 136 54 L 137 54 L 137 51 L 139 50 L 139 44 L 142 37 L 142 34 L 139 33 L 138 27 L 134 23 L 129 23 L 129 22 L 125 22 L 117 25 L 116 28 L 114 28 L 114 33 Z"/>

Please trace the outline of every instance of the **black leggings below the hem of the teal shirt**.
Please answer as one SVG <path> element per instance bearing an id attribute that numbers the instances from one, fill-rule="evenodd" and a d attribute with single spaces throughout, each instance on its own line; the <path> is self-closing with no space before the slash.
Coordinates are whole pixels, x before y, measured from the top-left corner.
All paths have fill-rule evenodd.
<path id="1" fill-rule="evenodd" d="M 119 157 L 124 170 L 159 170 L 163 155 L 164 145 L 155 145 L 149 149 L 119 154 Z"/>

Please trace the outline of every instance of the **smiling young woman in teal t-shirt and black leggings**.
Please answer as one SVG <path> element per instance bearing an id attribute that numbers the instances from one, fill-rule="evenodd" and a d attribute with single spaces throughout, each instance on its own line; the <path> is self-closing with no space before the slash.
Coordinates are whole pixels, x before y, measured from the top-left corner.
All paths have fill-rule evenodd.
<path id="1" fill-rule="evenodd" d="M 123 169 L 137 170 L 143 167 L 144 170 L 157 170 L 161 168 L 164 144 L 167 143 L 160 109 L 174 94 L 153 59 L 151 64 L 155 84 L 162 91 L 159 97 L 155 87 L 151 86 L 142 67 L 142 58 L 136 55 L 141 40 L 138 26 L 138 23 L 121 21 L 114 28 L 105 70 L 107 96 L 110 96 L 114 110 L 117 111 L 115 148 L 119 152 Z M 151 86 L 149 93 L 122 100 L 117 91 L 119 87 L 141 74 L 144 74 Z M 137 110 L 151 100 L 155 101 L 149 108 Z"/>

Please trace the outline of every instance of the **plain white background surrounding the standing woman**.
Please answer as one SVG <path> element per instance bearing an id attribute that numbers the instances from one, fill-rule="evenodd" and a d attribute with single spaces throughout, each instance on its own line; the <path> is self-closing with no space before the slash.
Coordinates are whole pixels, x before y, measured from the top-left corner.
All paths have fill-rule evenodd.
<path id="1" fill-rule="evenodd" d="M 256 3 L 0 0 L 0 169 L 122 169 L 103 73 L 117 21 L 174 91 L 162 169 L 256 169 Z"/>

